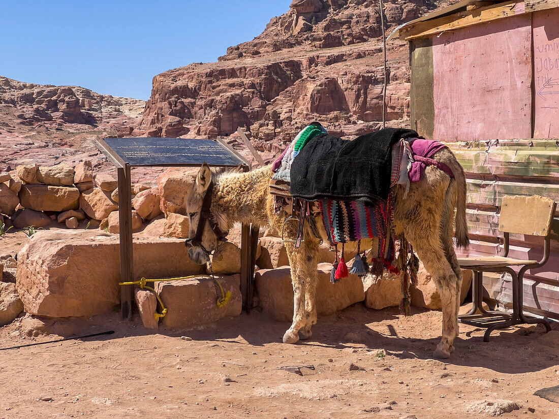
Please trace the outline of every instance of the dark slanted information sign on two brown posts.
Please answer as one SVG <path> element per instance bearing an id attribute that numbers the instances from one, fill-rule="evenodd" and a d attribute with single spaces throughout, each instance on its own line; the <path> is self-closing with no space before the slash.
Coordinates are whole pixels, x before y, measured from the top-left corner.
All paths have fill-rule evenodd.
<path id="1" fill-rule="evenodd" d="M 97 137 L 93 143 L 118 171 L 120 222 L 120 282 L 133 282 L 134 252 L 132 246 L 132 187 L 130 168 L 140 166 L 197 167 L 202 163 L 216 167 L 242 166 L 250 163 L 228 144 L 220 140 L 182 138 L 106 138 Z M 247 312 L 252 308 L 254 263 L 258 230 L 242 227 L 241 234 L 241 294 Z M 132 319 L 132 285 L 122 285 L 122 318 Z"/>

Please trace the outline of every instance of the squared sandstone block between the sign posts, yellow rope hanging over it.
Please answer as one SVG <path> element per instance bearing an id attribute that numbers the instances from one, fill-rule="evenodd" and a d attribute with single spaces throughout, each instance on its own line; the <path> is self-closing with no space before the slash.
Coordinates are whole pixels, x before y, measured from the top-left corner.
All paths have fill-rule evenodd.
<path id="1" fill-rule="evenodd" d="M 221 292 L 211 278 L 155 283 L 155 291 L 168 310 L 167 315 L 161 319 L 162 326 L 186 328 L 215 322 L 225 316 L 239 316 L 243 308 L 240 275 L 216 279 L 225 293 L 231 293 L 224 307 L 217 307 L 217 298 L 221 297 Z"/>

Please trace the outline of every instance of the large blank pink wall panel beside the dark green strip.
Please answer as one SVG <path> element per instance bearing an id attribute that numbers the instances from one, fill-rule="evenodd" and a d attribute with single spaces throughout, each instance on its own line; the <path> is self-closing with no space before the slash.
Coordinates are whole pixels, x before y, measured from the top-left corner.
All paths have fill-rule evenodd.
<path id="1" fill-rule="evenodd" d="M 532 136 L 531 15 L 431 39 L 434 140 Z"/>

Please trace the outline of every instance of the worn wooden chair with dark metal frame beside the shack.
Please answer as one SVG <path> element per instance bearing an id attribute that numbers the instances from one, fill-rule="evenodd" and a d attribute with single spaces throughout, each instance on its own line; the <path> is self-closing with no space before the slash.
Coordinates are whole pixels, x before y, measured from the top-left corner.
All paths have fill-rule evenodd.
<path id="1" fill-rule="evenodd" d="M 484 342 L 496 329 L 502 329 L 522 323 L 540 323 L 551 330 L 549 323 L 542 318 L 527 317 L 523 312 L 523 277 L 528 269 L 539 268 L 549 259 L 550 231 L 556 203 L 553 199 L 541 196 L 505 196 L 501 204 L 499 217 L 499 231 L 504 235 L 503 256 L 479 256 L 458 259 L 462 269 L 473 270 L 472 280 L 472 310 L 465 315 L 458 316 L 459 321 L 477 327 L 486 327 Z M 537 260 L 519 260 L 509 258 L 509 235 L 523 234 L 543 237 L 543 257 Z M 518 274 L 511 266 L 520 266 Z M 508 315 L 501 311 L 486 311 L 482 307 L 483 273 L 509 273 L 513 277 L 513 312 Z"/>

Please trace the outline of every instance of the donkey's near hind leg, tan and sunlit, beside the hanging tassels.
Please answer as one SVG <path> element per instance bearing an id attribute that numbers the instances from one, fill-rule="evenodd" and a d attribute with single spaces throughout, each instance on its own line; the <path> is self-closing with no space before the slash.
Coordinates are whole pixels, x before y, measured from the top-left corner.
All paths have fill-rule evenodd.
<path id="1" fill-rule="evenodd" d="M 425 234 L 423 228 L 406 226 L 405 234 L 414 249 L 423 261 L 427 271 L 433 275 L 435 284 L 440 294 L 443 311 L 443 330 L 440 343 L 437 345 L 434 358 L 446 359 L 451 356 L 452 346 L 457 334 L 458 311 L 456 307 L 456 293 L 458 278 L 452 270 L 451 264 L 444 257 L 443 248 L 440 243 L 438 228 Z M 429 234 L 430 233 L 430 234 Z"/>

